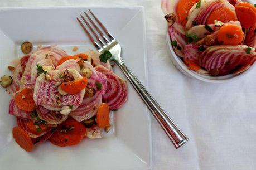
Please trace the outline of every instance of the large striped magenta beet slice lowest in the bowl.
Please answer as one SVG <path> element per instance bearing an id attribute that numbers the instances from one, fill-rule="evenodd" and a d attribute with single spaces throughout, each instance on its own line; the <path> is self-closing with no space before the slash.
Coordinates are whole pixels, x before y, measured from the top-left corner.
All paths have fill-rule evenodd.
<path id="1" fill-rule="evenodd" d="M 252 48 L 247 54 L 248 46 L 211 46 L 199 56 L 199 65 L 213 76 L 238 74 L 247 70 L 256 60 Z"/>

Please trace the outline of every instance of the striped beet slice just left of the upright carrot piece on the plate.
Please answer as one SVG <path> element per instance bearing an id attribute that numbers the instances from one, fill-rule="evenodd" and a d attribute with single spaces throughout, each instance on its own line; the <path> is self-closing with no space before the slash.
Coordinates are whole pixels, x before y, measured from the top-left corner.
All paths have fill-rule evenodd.
<path id="1" fill-rule="evenodd" d="M 90 119 L 96 114 L 100 104 L 102 104 L 102 94 L 96 93 L 91 98 L 85 96 L 81 105 L 69 115 L 78 122 Z"/>

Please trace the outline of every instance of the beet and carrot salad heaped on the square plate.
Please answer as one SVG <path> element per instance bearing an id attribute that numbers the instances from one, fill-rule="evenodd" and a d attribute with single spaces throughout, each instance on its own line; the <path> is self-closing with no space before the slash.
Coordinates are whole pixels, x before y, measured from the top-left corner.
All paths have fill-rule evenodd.
<path id="1" fill-rule="evenodd" d="M 57 46 L 22 45 L 27 55 L 8 66 L 11 76 L 1 85 L 11 95 L 9 114 L 16 116 L 13 138 L 30 152 L 49 140 L 59 147 L 76 145 L 85 138 L 101 138 L 109 132 L 110 111 L 123 106 L 127 83 L 114 74 L 102 54 L 90 50 L 76 55 Z"/>

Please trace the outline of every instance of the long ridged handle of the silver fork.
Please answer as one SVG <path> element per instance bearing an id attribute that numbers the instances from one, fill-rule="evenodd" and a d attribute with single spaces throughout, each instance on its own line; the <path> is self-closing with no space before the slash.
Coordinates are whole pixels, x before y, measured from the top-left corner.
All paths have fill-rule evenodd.
<path id="1" fill-rule="evenodd" d="M 139 80 L 134 76 L 131 70 L 124 64 L 123 61 L 118 63 L 118 66 L 127 76 L 128 80 L 132 83 L 133 87 L 141 96 L 144 103 L 148 106 L 149 110 L 156 118 L 157 122 L 161 125 L 162 129 L 165 131 L 167 136 L 171 139 L 175 148 L 180 148 L 181 145 L 186 143 L 189 138 L 181 132 L 177 125 L 170 119 L 170 117 L 165 113 L 161 106 L 153 99 L 151 94 L 148 93 L 147 89 L 139 82 Z"/>

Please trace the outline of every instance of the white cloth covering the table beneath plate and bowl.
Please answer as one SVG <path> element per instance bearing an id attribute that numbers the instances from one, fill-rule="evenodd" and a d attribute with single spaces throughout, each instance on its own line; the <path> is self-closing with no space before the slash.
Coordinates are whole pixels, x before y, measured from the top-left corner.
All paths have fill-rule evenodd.
<path id="1" fill-rule="evenodd" d="M 256 169 L 256 68 L 226 84 L 208 84 L 181 74 L 169 59 L 160 0 L 0 1 L 0 7 L 79 5 L 145 8 L 149 91 L 190 138 L 176 150 L 151 117 L 153 169 Z"/>

